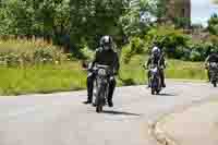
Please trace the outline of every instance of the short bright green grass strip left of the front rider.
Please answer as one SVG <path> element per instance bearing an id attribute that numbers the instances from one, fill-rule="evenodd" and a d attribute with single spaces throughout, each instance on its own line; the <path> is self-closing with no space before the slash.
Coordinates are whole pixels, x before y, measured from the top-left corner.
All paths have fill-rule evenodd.
<path id="1" fill-rule="evenodd" d="M 0 67 L 0 95 L 51 93 L 86 87 L 86 73 L 77 62 L 27 68 Z"/>

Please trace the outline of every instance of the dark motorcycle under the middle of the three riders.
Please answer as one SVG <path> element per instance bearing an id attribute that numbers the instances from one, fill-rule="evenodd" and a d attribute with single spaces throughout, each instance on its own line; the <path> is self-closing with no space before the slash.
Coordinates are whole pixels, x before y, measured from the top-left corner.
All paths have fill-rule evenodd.
<path id="1" fill-rule="evenodd" d="M 150 74 L 149 85 L 152 88 L 152 95 L 155 94 L 158 95 L 162 88 L 159 69 L 160 68 L 158 65 L 154 65 L 149 69 L 149 74 Z"/>

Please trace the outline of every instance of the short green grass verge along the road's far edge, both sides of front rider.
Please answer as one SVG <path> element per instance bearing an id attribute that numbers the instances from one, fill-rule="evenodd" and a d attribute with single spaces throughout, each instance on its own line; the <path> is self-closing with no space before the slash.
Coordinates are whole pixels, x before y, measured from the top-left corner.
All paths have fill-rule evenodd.
<path id="1" fill-rule="evenodd" d="M 143 85 L 146 71 L 142 64 L 146 58 L 135 56 L 130 63 L 121 61 L 118 86 Z M 86 88 L 87 73 L 80 62 L 41 64 L 27 68 L 0 67 L 0 95 L 52 93 Z M 169 60 L 166 70 L 168 78 L 206 80 L 202 62 Z"/>

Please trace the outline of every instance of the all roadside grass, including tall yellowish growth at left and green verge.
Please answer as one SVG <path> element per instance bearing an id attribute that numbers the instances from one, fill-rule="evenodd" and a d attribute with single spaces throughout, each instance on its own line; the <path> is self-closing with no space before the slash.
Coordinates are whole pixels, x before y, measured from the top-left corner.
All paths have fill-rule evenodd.
<path id="1" fill-rule="evenodd" d="M 16 63 L 16 59 L 14 59 L 16 57 L 19 60 L 27 59 L 25 60 L 27 63 L 24 64 L 20 64 L 19 62 L 16 65 L 9 65 L 9 63 L 5 65 L 0 64 L 0 95 L 52 93 L 86 88 L 87 74 L 82 70 L 81 63 L 76 60 L 66 61 L 63 59 L 61 63 L 33 63 L 33 61 L 44 60 L 47 56 L 47 50 L 51 52 L 51 59 L 53 60 L 63 55 L 59 48 L 40 39 L 36 41 L 23 39 L 0 40 L 0 61 L 2 56 L 10 60 L 10 55 L 12 55 L 11 59 L 14 63 Z M 63 58 L 65 58 L 64 56 Z M 138 55 L 132 57 L 130 62 L 125 63 L 122 53 L 118 77 L 119 86 L 145 84 L 147 71 L 142 65 L 146 60 L 146 56 Z M 166 75 L 168 78 L 206 78 L 202 62 L 180 60 L 168 61 Z"/>

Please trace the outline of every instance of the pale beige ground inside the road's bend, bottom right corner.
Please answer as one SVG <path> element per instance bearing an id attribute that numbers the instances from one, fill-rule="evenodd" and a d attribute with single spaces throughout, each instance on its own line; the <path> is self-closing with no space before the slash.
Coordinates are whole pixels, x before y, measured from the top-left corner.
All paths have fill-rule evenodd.
<path id="1" fill-rule="evenodd" d="M 195 104 L 165 116 L 156 123 L 168 145 L 217 145 L 218 99 Z M 185 126 L 185 129 L 184 129 Z M 158 136 L 158 135 L 157 135 Z"/>

